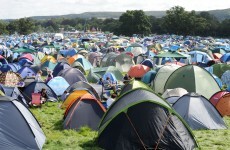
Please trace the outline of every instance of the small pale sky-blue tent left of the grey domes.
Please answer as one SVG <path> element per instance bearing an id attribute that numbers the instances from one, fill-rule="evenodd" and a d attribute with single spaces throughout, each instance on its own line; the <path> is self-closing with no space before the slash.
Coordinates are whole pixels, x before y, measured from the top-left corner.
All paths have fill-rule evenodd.
<path id="1" fill-rule="evenodd" d="M 69 87 L 69 83 L 63 77 L 55 77 L 51 79 L 47 85 L 55 92 L 57 96 L 61 96 Z"/>

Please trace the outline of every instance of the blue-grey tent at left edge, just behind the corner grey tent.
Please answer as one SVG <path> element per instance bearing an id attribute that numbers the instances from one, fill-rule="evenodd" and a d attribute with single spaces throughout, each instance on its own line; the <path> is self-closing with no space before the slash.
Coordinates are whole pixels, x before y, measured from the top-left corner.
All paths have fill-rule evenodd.
<path id="1" fill-rule="evenodd" d="M 28 107 L 25 98 L 17 87 L 8 87 L 0 84 L 0 90 L 5 94 L 5 96 L 12 97 L 13 99 L 18 100 L 22 104 Z"/>

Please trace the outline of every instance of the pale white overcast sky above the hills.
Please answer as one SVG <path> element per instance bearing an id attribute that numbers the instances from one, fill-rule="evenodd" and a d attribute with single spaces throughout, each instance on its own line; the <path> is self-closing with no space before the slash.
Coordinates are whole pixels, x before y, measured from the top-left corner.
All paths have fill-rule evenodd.
<path id="1" fill-rule="evenodd" d="M 230 0 L 0 0 L 0 19 L 65 15 L 92 11 L 185 10 L 230 8 Z"/>

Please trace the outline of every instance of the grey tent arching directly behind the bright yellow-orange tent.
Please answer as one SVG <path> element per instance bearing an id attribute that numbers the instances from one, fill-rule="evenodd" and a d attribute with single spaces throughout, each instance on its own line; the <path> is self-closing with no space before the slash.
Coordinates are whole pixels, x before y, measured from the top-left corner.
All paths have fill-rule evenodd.
<path id="1" fill-rule="evenodd" d="M 100 85 L 101 88 L 101 85 Z M 68 93 L 72 93 L 75 90 L 87 90 L 91 95 L 93 95 L 96 99 L 100 100 L 100 95 L 98 93 L 98 88 L 95 89 L 91 84 L 84 82 L 84 81 L 78 81 L 71 86 L 69 86 L 66 91 Z"/>

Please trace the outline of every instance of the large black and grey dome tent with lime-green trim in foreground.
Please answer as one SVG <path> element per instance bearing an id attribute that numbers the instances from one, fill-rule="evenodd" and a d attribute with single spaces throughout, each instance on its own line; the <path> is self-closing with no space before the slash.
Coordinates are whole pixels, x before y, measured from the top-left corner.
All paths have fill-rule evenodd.
<path id="1" fill-rule="evenodd" d="M 144 89 L 125 93 L 110 106 L 99 125 L 98 145 L 110 150 L 199 147 L 171 106 Z"/>

